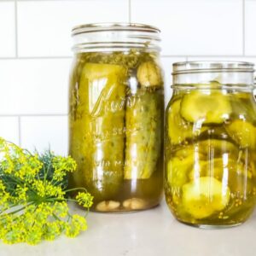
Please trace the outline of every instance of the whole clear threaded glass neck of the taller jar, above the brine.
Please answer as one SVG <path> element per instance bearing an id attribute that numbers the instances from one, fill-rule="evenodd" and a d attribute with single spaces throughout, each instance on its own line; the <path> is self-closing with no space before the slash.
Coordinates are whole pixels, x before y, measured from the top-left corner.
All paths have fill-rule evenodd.
<path id="1" fill-rule="evenodd" d="M 139 23 L 90 23 L 75 26 L 73 51 L 129 51 L 140 49 L 160 52 L 160 30 Z"/>

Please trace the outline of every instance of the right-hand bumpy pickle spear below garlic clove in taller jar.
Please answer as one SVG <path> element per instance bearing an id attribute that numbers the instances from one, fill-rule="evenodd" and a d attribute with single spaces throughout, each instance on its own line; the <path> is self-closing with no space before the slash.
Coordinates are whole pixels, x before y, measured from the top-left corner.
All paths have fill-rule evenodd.
<path id="1" fill-rule="evenodd" d="M 126 102 L 125 179 L 148 178 L 161 157 L 163 95 L 140 90 Z"/>

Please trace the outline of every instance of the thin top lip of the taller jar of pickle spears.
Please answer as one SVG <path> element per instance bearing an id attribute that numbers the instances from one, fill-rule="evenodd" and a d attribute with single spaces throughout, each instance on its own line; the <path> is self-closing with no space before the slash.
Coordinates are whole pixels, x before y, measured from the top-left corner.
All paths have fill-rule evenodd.
<path id="1" fill-rule="evenodd" d="M 72 36 L 86 32 L 104 32 L 104 31 L 141 31 L 160 33 L 160 29 L 156 26 L 146 25 L 142 23 L 130 22 L 102 22 L 88 23 L 79 26 L 74 26 Z"/>

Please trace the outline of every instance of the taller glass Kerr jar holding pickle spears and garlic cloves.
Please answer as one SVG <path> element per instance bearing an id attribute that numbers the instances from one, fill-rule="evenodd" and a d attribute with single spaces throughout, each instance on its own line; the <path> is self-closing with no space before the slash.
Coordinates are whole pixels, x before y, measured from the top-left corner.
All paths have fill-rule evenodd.
<path id="1" fill-rule="evenodd" d="M 73 29 L 69 150 L 78 170 L 70 182 L 94 196 L 94 211 L 143 210 L 162 197 L 159 33 L 129 23 Z"/>

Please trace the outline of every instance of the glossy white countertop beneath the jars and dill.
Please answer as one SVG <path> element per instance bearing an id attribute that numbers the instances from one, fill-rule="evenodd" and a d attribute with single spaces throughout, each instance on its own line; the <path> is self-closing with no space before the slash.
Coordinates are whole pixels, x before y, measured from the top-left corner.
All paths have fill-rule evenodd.
<path id="1" fill-rule="evenodd" d="M 164 201 L 143 212 L 90 212 L 88 230 L 74 239 L 61 236 L 38 246 L 0 241 L 0 256 L 255 256 L 255 213 L 236 228 L 201 230 L 178 223 Z"/>

